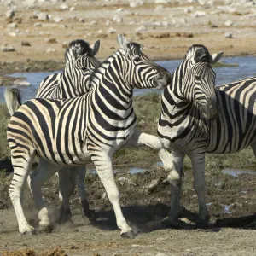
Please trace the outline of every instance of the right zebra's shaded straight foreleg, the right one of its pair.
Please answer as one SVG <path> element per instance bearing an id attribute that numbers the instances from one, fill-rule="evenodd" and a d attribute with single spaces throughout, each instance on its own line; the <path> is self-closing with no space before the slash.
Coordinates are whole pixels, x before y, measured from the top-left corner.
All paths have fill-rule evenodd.
<path id="1" fill-rule="evenodd" d="M 199 214 L 197 220 L 197 226 L 200 228 L 208 228 L 208 210 L 205 199 L 205 154 L 193 153 L 190 155 L 194 176 L 194 189 L 198 198 Z"/>

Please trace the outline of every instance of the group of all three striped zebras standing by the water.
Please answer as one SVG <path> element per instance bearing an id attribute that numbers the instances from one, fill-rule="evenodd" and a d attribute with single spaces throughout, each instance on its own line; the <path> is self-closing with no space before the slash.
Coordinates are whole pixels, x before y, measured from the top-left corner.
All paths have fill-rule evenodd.
<path id="1" fill-rule="evenodd" d="M 121 236 L 133 237 L 119 205 L 112 157 L 121 147 L 138 146 L 153 148 L 169 173 L 171 224 L 177 224 L 183 158 L 189 156 L 199 204 L 197 224 L 205 227 L 205 154 L 232 153 L 251 146 L 256 156 L 256 78 L 216 88 L 212 64 L 223 52 L 210 55 L 205 46 L 194 44 L 171 75 L 143 54 L 142 44 L 129 42 L 122 35 L 118 35 L 118 43 L 119 50 L 101 63 L 95 58 L 99 41 L 92 46 L 83 40 L 73 41 L 65 54 L 64 72 L 44 79 L 36 99 L 21 105 L 19 90 L 6 91 L 12 114 L 7 138 L 14 166 L 9 195 L 20 233 L 34 232 L 20 201 L 27 177 L 41 230 L 51 230 L 41 188 L 55 172 L 59 174 L 62 220 L 72 217 L 69 198 L 75 184 L 84 215 L 93 219 L 84 188 L 84 165 L 92 161 L 113 205 Z M 137 130 L 134 88 L 164 88 L 158 137 Z M 40 157 L 38 168 L 31 172 L 36 154 Z"/>

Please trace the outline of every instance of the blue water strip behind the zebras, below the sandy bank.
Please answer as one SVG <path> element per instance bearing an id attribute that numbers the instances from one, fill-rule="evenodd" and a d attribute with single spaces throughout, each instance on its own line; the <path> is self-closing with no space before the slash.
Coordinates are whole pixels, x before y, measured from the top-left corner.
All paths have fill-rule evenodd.
<path id="1" fill-rule="evenodd" d="M 217 78 L 216 84 L 225 84 L 237 79 L 244 79 L 256 76 L 256 57 L 254 56 L 243 56 L 243 57 L 229 57 L 224 58 L 224 62 L 228 64 L 238 64 L 239 67 L 216 67 L 214 68 Z M 181 60 L 176 61 L 159 61 L 158 63 L 169 70 L 171 73 L 177 68 Z M 23 102 L 32 99 L 37 94 L 38 85 L 47 76 L 52 73 L 60 73 L 61 71 L 55 72 L 36 72 L 36 73 L 13 73 L 13 77 L 24 77 L 31 86 L 20 86 L 21 95 Z M 5 87 L 0 86 L 0 102 L 4 102 L 3 91 Z M 134 95 L 146 94 L 149 91 L 157 91 L 154 89 L 135 90 Z M 160 92 L 160 91 L 159 91 Z"/>

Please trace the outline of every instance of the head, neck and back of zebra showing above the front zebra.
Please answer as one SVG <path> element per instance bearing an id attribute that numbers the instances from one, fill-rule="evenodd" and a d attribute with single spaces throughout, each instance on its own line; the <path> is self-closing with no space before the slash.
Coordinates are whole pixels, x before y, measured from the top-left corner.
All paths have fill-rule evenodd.
<path id="1" fill-rule="evenodd" d="M 36 98 L 73 98 L 88 92 L 90 73 L 101 63 L 94 57 L 99 48 L 99 40 L 91 46 L 84 40 L 72 41 L 65 52 L 64 72 L 45 78 L 38 86 Z"/>

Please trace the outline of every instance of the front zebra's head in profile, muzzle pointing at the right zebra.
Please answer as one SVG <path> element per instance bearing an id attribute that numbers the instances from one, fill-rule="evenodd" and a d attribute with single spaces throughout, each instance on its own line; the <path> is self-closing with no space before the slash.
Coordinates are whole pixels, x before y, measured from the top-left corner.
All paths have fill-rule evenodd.
<path id="1" fill-rule="evenodd" d="M 142 52 L 143 45 L 129 42 L 123 35 L 118 35 L 119 53 L 123 56 L 123 77 L 126 84 L 135 88 L 162 89 L 171 84 L 172 75 L 148 59 Z"/>

